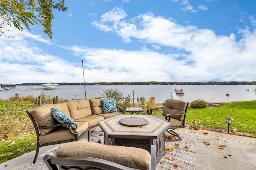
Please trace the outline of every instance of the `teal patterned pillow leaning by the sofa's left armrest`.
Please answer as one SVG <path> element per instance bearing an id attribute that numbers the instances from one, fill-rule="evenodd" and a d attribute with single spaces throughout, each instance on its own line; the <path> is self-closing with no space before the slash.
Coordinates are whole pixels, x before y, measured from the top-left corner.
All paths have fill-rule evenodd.
<path id="1" fill-rule="evenodd" d="M 63 111 L 61 111 L 59 109 L 52 108 L 52 116 L 59 123 L 69 123 L 69 122 L 75 123 L 75 121 L 71 117 L 69 117 L 66 113 L 64 113 Z M 68 128 L 68 125 L 64 125 L 64 127 Z M 76 125 L 71 124 L 71 129 L 76 130 Z"/>

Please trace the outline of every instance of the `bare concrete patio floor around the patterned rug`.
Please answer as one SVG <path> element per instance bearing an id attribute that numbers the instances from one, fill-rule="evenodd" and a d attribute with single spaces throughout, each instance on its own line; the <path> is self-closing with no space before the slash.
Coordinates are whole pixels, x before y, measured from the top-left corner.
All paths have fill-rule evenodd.
<path id="1" fill-rule="evenodd" d="M 99 127 L 97 127 L 99 128 Z M 180 129 L 197 137 L 196 170 L 254 170 L 256 167 L 256 139 L 225 133 L 202 130 Z M 211 145 L 207 145 L 210 143 Z M 40 149 L 38 158 L 51 153 L 62 145 L 46 146 Z M 219 149 L 218 145 L 225 145 Z M 34 159 L 35 151 L 29 152 L 0 164 L 1 170 L 13 170 Z"/>

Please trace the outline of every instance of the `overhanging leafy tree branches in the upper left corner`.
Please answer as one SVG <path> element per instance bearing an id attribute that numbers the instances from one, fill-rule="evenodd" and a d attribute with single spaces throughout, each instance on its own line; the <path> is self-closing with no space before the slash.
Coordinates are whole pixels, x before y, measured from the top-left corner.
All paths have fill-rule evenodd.
<path id="1" fill-rule="evenodd" d="M 53 10 L 65 12 L 64 0 L 0 0 L 0 36 L 14 25 L 22 31 L 23 27 L 41 24 L 44 33 L 52 39 Z"/>

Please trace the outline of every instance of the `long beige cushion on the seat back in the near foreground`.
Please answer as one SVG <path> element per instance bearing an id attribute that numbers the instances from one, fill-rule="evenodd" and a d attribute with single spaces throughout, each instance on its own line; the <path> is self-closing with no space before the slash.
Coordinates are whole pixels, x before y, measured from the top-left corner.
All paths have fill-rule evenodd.
<path id="1" fill-rule="evenodd" d="M 147 150 L 134 147 L 102 145 L 87 141 L 66 143 L 57 150 L 56 156 L 86 156 L 108 160 L 140 170 L 151 168 L 151 156 Z"/>

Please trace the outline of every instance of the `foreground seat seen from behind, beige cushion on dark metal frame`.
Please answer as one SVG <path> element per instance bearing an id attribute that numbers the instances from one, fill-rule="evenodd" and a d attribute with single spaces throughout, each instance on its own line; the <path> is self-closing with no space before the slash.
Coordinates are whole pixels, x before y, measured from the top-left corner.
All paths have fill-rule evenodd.
<path id="1" fill-rule="evenodd" d="M 62 145 L 56 156 L 43 158 L 49 170 L 155 170 L 156 146 L 144 149 L 78 141 Z M 58 167 L 57 167 L 58 165 Z"/>

